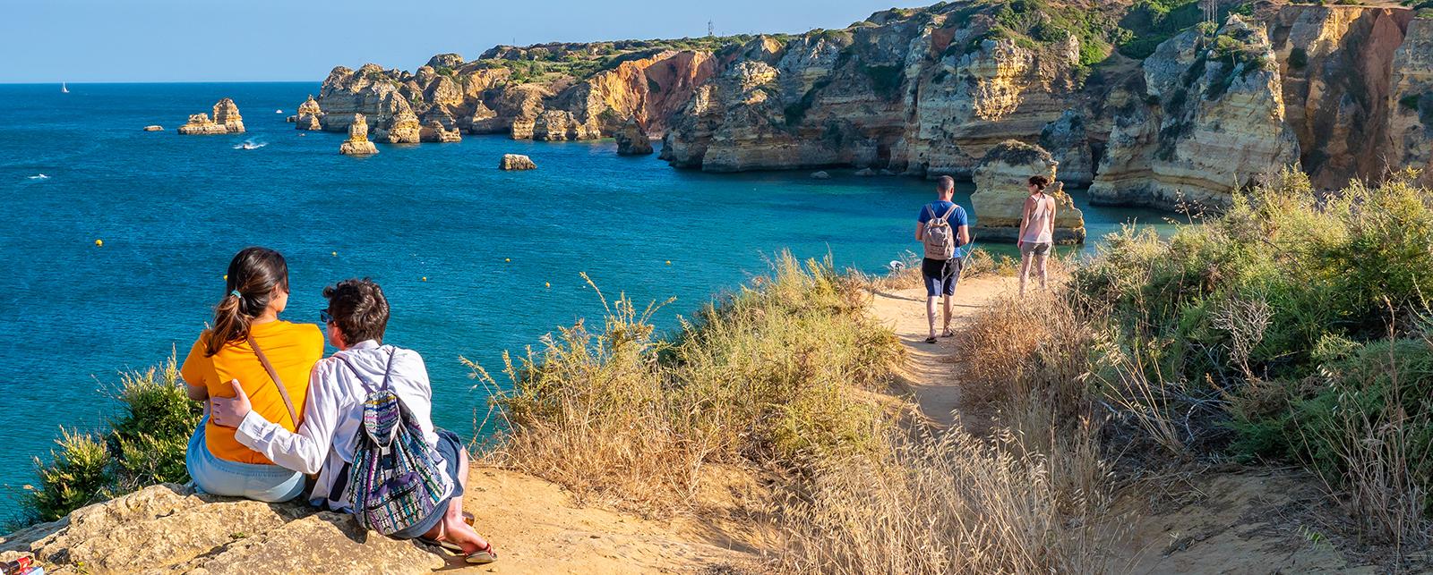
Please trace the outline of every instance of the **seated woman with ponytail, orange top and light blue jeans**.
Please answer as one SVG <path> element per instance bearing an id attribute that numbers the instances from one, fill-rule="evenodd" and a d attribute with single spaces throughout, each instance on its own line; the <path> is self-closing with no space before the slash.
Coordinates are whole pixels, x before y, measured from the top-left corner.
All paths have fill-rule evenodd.
<path id="1" fill-rule="evenodd" d="M 225 282 L 228 293 L 214 309 L 214 328 L 199 333 L 179 370 L 189 399 L 205 402 L 208 413 L 209 398 L 232 398 L 231 380 L 239 380 L 254 411 L 295 431 L 308 372 L 324 355 L 324 336 L 312 323 L 278 319 L 288 305 L 288 263 L 278 252 L 245 247 L 229 262 Z M 245 448 L 232 428 L 216 426 L 208 416 L 189 439 L 185 462 L 206 493 L 278 502 L 304 491 L 302 473 Z"/>

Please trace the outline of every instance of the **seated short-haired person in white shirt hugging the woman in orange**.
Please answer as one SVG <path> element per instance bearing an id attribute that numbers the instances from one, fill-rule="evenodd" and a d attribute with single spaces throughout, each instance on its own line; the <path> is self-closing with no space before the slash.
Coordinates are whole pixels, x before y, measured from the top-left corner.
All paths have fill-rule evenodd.
<path id="1" fill-rule="evenodd" d="M 320 318 L 338 352 L 314 365 L 298 431 L 289 432 L 252 411 L 238 382 L 232 382 L 234 398 L 211 399 L 211 419 L 215 425 L 235 428 L 239 443 L 275 463 L 302 473 L 318 473 L 311 503 L 351 512 L 348 469 L 363 429 L 363 405 L 368 395 L 364 382 L 374 386 L 387 378 L 390 389 L 421 428 L 430 456 L 440 462 L 453 486 L 446 505 L 438 505 L 433 515 L 393 536 L 438 542 L 461 551 L 470 564 L 494 561 L 493 546 L 463 521 L 467 451 L 457 435 L 433 426 L 433 388 L 423 358 L 410 349 L 383 345 L 383 332 L 388 325 L 388 302 L 383 289 L 368 279 L 348 279 L 324 288 L 324 298 L 328 299 L 328 309 L 320 312 Z"/>

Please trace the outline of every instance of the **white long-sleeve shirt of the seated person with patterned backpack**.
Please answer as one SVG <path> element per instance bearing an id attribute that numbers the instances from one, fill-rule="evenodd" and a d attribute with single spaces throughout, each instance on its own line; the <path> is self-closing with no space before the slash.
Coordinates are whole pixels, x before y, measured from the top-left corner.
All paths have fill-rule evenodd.
<path id="1" fill-rule="evenodd" d="M 368 385 L 377 389 L 383 385 L 390 353 L 396 355 L 388 386 L 417 419 L 428 453 L 446 473 L 447 466 L 443 465 L 443 455 L 437 451 L 438 436 L 433 429 L 433 388 L 423 356 L 411 349 L 380 346 L 371 339 L 314 363 L 308 399 L 304 402 L 304 423 L 297 432 L 289 432 L 251 411 L 239 422 L 235 439 L 284 468 L 301 473 L 318 473 L 310 502 L 348 511 L 348 478 L 342 476 L 344 466 L 354 459 L 358 432 L 363 431 L 363 402 L 368 392 L 342 359 L 361 370 Z M 335 483 L 340 483 L 338 489 Z M 447 495 L 443 493 L 444 498 Z"/>

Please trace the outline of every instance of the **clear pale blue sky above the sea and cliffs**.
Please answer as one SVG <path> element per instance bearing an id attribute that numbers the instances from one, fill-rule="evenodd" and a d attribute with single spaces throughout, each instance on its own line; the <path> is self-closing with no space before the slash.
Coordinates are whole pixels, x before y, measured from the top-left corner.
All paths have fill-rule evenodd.
<path id="1" fill-rule="evenodd" d="M 0 0 L 0 83 L 321 80 L 494 44 L 840 29 L 893 0 Z M 924 0 L 910 0 L 929 4 Z"/>

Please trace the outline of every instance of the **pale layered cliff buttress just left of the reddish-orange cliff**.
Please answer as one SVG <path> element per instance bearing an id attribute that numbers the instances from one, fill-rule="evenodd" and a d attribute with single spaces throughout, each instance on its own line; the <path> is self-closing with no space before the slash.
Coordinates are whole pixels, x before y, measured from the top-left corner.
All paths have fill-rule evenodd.
<path id="1" fill-rule="evenodd" d="M 1188 30 L 1159 44 L 1121 90 L 1091 202 L 1224 207 L 1232 190 L 1298 162 L 1268 36 L 1238 16 L 1214 37 Z"/>

